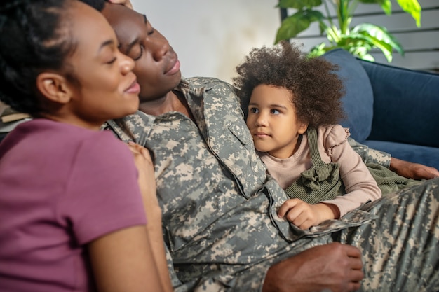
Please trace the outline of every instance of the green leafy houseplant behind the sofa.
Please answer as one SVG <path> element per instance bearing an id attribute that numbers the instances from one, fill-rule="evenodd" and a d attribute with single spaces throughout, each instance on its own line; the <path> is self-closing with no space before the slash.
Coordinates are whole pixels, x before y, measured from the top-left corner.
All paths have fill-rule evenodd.
<path id="1" fill-rule="evenodd" d="M 417 0 L 397 0 L 399 6 L 421 26 L 421 6 Z M 350 27 L 353 13 L 358 3 L 377 4 L 386 15 L 391 15 L 391 0 L 279 0 L 279 8 L 295 8 L 293 15 L 285 18 L 278 28 L 276 41 L 294 38 L 309 28 L 312 22 L 318 22 L 320 33 L 329 41 L 320 43 L 311 49 L 311 56 L 323 55 L 333 48 L 344 48 L 364 60 L 373 61 L 372 48 L 379 48 L 388 62 L 391 62 L 393 50 L 404 55 L 403 46 L 385 27 L 371 23 L 361 23 Z M 330 15 L 330 5 L 337 15 Z M 320 7 L 323 6 L 323 7 Z M 320 8 L 320 9 L 319 9 Z"/>

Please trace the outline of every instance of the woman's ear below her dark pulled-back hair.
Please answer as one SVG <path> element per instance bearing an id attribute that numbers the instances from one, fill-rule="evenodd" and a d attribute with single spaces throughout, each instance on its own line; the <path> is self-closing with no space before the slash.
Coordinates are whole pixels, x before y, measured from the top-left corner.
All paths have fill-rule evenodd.
<path id="1" fill-rule="evenodd" d="M 51 102 L 67 104 L 72 97 L 67 80 L 57 73 L 43 72 L 36 77 L 36 88 Z"/>

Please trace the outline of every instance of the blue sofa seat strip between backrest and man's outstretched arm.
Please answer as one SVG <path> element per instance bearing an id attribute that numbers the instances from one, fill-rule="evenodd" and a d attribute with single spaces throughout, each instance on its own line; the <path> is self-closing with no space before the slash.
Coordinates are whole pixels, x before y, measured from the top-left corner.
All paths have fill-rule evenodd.
<path id="1" fill-rule="evenodd" d="M 395 158 L 439 169 L 439 148 L 376 140 L 367 140 L 364 144 L 372 149 L 392 153 Z"/>

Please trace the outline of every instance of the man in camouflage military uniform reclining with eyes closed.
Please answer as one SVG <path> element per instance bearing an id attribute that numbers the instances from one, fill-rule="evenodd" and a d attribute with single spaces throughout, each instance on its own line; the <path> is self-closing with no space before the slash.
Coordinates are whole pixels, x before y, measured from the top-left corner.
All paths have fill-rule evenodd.
<path id="1" fill-rule="evenodd" d="M 276 216 L 285 194 L 255 154 L 234 88 L 182 79 L 144 15 L 117 5 L 103 13 L 136 62 L 147 113 L 108 128 L 154 157 L 175 291 L 439 290 L 438 179 L 299 230 Z"/>

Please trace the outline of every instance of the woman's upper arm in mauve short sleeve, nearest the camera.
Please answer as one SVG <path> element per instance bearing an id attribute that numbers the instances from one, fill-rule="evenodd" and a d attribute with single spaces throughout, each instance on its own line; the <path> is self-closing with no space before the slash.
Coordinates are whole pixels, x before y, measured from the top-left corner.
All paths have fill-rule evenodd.
<path id="1" fill-rule="evenodd" d="M 170 291 L 161 281 L 157 251 L 147 231 L 147 225 L 161 226 L 161 221 L 145 218 L 133 164 L 140 158 L 133 158 L 126 144 L 109 132 L 97 132 L 81 143 L 67 195 L 60 201 L 59 212 L 71 214 L 74 235 L 88 250 L 101 292 Z M 155 183 L 147 183 L 142 189 L 155 194 Z M 74 204 L 80 207 L 72 209 Z"/>

